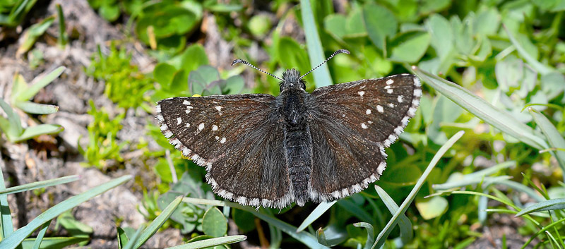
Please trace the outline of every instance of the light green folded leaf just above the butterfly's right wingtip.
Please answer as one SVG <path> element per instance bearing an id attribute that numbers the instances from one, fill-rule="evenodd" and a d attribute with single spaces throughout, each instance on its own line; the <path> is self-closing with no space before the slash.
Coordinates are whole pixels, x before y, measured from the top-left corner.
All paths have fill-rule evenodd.
<path id="1" fill-rule="evenodd" d="M 415 63 L 424 56 L 429 47 L 430 35 L 427 32 L 403 32 L 388 43 L 390 59 L 396 62 Z"/>

